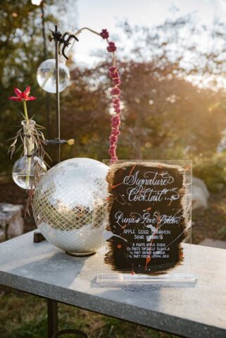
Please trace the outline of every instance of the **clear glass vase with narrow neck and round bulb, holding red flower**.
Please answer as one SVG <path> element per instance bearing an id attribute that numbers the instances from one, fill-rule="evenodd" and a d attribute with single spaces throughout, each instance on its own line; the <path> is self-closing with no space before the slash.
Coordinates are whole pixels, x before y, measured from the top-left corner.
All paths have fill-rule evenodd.
<path id="1" fill-rule="evenodd" d="M 13 181 L 23 189 L 33 189 L 35 178 L 46 172 L 44 161 L 34 156 L 34 129 L 35 122 L 32 119 L 21 122 L 23 126 L 24 156 L 13 165 Z"/>

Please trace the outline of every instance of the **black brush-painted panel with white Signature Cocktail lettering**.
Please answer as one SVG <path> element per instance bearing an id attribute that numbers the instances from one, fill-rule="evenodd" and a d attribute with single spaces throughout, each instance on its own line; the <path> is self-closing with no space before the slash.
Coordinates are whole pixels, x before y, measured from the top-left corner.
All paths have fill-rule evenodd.
<path id="1" fill-rule="evenodd" d="M 183 259 L 184 169 L 156 162 L 113 164 L 108 172 L 106 263 L 123 273 L 165 273 Z"/>

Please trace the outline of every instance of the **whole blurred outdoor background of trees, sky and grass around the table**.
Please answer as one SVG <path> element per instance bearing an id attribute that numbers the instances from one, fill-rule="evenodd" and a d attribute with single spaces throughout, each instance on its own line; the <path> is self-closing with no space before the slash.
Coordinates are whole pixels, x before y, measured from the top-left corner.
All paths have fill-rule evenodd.
<path id="1" fill-rule="evenodd" d="M 61 32 L 107 28 L 118 46 L 122 79 L 120 159 L 193 160 L 194 176 L 211 196 L 207 209 L 193 215 L 193 242 L 226 239 L 226 1 L 225 0 L 2 0 L 0 2 L 0 188 L 1 202 L 25 204 L 15 186 L 7 141 L 20 124 L 20 103 L 8 100 L 13 87 L 32 87 L 30 117 L 56 137 L 55 98 L 37 84 L 37 67 L 54 57 L 49 29 Z M 45 40 L 44 40 L 45 34 Z M 61 136 L 75 138 L 62 147 L 63 159 L 108 159 L 111 127 L 111 56 L 103 39 L 80 35 L 67 66 L 70 85 L 61 93 Z M 50 152 L 53 162 L 55 153 Z M 34 228 L 32 217 L 25 230 Z M 44 337 L 45 304 L 2 290 L 0 335 Z M 17 304 L 15 306 L 15 304 Z M 23 311 L 19 310 L 22 306 Z M 30 308 L 34 311 L 30 312 Z M 61 325 L 87 329 L 89 337 L 172 337 L 117 320 L 62 306 Z M 6 314 L 5 314 L 6 313 Z M 75 320 L 74 316 L 79 315 Z M 8 325 L 9 321 L 13 325 Z M 89 324 L 88 324 L 89 323 Z M 127 332 L 125 334 L 125 332 Z M 136 333 L 134 333 L 136 332 Z"/>

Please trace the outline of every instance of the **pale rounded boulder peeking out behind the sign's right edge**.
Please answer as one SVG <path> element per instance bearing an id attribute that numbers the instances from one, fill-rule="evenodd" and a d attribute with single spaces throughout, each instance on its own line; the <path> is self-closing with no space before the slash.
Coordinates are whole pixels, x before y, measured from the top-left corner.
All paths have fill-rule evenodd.
<path id="1" fill-rule="evenodd" d="M 208 207 L 208 197 L 210 193 L 204 181 L 200 178 L 192 178 L 192 209 L 199 209 Z"/>

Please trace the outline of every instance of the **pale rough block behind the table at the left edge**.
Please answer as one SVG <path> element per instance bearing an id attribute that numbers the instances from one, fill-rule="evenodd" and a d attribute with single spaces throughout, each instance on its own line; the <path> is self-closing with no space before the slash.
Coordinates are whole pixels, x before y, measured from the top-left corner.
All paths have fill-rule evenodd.
<path id="1" fill-rule="evenodd" d="M 0 203 L 0 241 L 9 240 L 23 234 L 23 205 Z"/>

